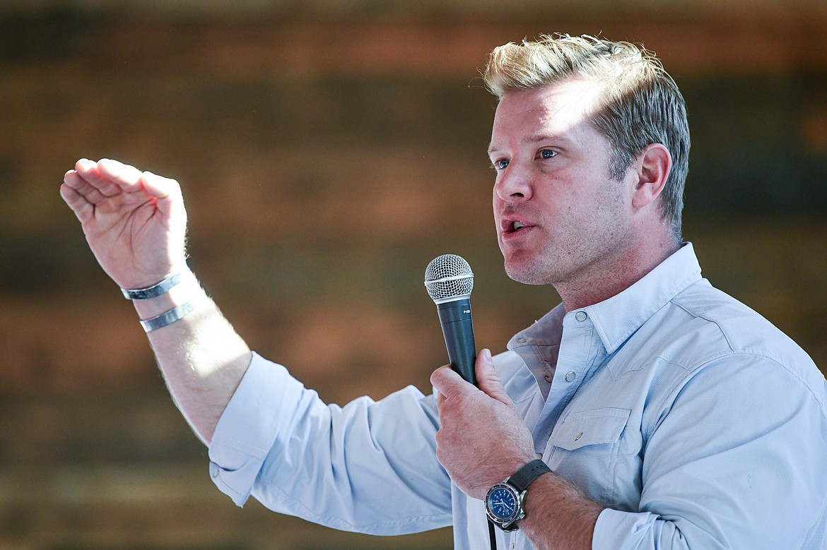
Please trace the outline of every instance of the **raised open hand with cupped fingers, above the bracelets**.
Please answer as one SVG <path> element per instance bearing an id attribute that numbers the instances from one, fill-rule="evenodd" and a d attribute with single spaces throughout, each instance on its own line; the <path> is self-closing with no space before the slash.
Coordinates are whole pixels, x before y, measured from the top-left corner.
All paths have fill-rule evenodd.
<path id="1" fill-rule="evenodd" d="M 80 159 L 66 173 L 60 196 L 120 287 L 149 287 L 184 268 L 187 214 L 173 179 L 117 160 Z"/>

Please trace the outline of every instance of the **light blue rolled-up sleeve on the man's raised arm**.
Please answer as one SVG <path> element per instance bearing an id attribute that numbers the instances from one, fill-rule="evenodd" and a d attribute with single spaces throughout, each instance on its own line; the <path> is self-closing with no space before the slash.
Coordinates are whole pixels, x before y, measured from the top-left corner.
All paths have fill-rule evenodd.
<path id="1" fill-rule="evenodd" d="M 237 505 L 252 495 L 335 529 L 436 529 L 452 517 L 437 428 L 433 398 L 412 386 L 380 401 L 327 405 L 254 354 L 213 434 L 210 475 Z"/>

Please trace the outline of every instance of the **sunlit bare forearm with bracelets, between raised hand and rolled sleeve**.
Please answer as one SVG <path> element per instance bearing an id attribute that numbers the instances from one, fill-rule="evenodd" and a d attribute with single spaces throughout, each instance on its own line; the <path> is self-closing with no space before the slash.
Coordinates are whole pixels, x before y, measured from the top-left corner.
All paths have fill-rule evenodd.
<path id="1" fill-rule="evenodd" d="M 198 437 L 209 443 L 250 364 L 250 348 L 192 273 L 185 273 L 170 292 L 133 303 L 146 320 L 189 300 L 194 301 L 194 311 L 147 336 L 175 404 Z"/>

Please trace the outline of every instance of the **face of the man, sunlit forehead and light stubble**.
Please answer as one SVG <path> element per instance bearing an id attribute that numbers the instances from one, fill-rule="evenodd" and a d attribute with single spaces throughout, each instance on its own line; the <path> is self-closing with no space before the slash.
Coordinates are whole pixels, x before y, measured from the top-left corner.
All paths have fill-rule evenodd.
<path id="1" fill-rule="evenodd" d="M 633 184 L 609 176 L 608 140 L 589 121 L 596 92 L 575 80 L 509 92 L 497 107 L 494 218 L 516 281 L 599 281 L 632 242 Z"/>

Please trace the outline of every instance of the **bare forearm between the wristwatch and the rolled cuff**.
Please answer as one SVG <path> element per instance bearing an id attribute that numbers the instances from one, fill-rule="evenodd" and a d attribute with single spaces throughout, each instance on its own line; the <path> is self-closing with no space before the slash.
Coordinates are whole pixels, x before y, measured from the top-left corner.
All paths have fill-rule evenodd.
<path id="1" fill-rule="evenodd" d="M 531 484 L 519 529 L 538 550 L 590 550 L 601 511 L 602 506 L 549 472 Z"/>

